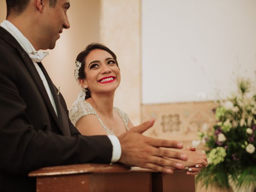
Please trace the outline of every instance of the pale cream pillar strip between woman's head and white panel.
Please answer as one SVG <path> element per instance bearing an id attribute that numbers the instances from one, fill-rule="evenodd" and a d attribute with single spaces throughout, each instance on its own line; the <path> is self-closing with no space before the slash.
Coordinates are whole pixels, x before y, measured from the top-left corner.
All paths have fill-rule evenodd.
<path id="1" fill-rule="evenodd" d="M 101 0 L 100 41 L 117 55 L 121 84 L 114 105 L 141 122 L 140 0 Z"/>

